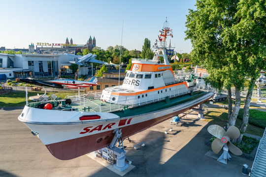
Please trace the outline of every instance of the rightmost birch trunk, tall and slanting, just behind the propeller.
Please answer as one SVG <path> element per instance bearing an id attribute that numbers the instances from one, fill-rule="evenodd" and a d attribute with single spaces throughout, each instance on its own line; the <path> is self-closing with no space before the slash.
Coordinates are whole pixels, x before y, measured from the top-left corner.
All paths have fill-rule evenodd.
<path id="1" fill-rule="evenodd" d="M 252 97 L 252 92 L 254 89 L 254 84 L 256 82 L 256 79 L 252 79 L 251 83 L 253 84 L 253 87 L 251 90 L 248 91 L 247 96 L 246 96 L 246 101 L 245 101 L 245 106 L 244 106 L 244 110 L 243 110 L 243 120 L 242 120 L 242 124 L 239 128 L 240 130 L 240 136 L 239 138 L 236 139 L 236 142 L 241 142 L 244 133 L 246 132 L 247 126 L 248 126 L 248 118 L 249 118 L 249 105 L 250 105 L 250 101 L 251 101 L 251 97 Z"/>

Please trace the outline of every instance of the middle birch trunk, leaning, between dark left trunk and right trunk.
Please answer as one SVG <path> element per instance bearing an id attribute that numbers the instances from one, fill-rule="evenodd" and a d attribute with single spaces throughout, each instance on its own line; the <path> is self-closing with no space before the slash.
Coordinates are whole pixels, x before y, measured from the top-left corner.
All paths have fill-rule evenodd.
<path id="1" fill-rule="evenodd" d="M 237 87 L 234 87 L 234 88 L 235 88 L 235 103 L 234 103 L 233 112 L 228 118 L 228 126 L 227 126 L 228 128 L 235 125 L 235 121 L 236 121 L 238 112 L 240 110 L 240 103 L 241 103 L 240 90 L 238 90 Z"/>

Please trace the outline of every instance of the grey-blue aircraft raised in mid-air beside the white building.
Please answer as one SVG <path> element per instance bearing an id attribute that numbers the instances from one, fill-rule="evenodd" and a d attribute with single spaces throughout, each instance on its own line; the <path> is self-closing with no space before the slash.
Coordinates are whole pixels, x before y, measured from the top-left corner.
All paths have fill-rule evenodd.
<path id="1" fill-rule="evenodd" d="M 73 57 L 75 61 L 69 61 L 70 63 L 78 64 L 78 65 L 83 65 L 82 62 L 94 62 L 94 63 L 100 63 L 100 64 L 108 64 L 107 62 L 100 61 L 95 59 L 97 56 L 94 54 L 88 54 L 85 56 L 79 56 L 79 55 L 72 55 L 72 54 L 65 54 L 67 56 Z"/>

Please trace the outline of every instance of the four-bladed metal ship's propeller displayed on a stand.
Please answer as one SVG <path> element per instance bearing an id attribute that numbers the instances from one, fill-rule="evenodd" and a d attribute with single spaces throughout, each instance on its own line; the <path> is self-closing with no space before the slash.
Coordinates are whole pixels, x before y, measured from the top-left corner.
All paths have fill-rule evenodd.
<path id="1" fill-rule="evenodd" d="M 230 140 L 234 140 L 240 136 L 240 131 L 235 126 L 229 127 L 227 131 L 219 125 L 210 125 L 208 127 L 208 132 L 216 137 L 212 142 L 211 148 L 214 153 L 218 153 L 225 144 L 227 144 L 229 150 L 235 155 L 241 155 L 242 151 L 234 146 Z"/>

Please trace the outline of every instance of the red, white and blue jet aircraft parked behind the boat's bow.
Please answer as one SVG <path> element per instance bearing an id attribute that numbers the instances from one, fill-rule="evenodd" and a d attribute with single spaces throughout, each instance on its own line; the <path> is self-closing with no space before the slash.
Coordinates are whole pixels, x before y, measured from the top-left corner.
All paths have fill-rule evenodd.
<path id="1" fill-rule="evenodd" d="M 94 76 L 90 81 L 78 81 L 78 80 L 70 80 L 70 79 L 57 79 L 53 81 L 49 81 L 51 83 L 65 85 L 69 89 L 78 89 L 78 88 L 86 88 L 91 86 L 98 85 L 97 78 Z"/>

